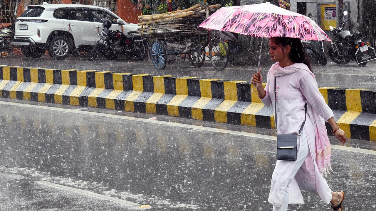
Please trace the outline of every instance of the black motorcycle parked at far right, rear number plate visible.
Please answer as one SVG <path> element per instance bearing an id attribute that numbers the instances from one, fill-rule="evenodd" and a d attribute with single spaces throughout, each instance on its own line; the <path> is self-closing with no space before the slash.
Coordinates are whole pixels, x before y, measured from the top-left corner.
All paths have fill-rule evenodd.
<path id="1" fill-rule="evenodd" d="M 347 11 L 344 13 L 344 19 L 347 17 Z M 361 40 L 361 33 L 351 34 L 350 31 L 343 30 L 343 21 L 340 27 L 330 29 L 334 35 L 334 42 L 331 42 L 332 48 L 329 49 L 329 57 L 333 62 L 343 65 L 355 60 L 359 66 L 367 65 L 367 62 L 376 59 L 376 53 L 370 43 Z"/>

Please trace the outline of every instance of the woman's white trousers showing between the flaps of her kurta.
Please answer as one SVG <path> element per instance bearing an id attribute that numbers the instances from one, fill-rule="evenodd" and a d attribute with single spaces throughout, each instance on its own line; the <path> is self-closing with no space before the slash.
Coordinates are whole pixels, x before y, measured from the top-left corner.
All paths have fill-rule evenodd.
<path id="1" fill-rule="evenodd" d="M 309 172 L 306 172 L 307 168 L 305 167 L 304 161 L 306 160 L 308 155 L 309 156 L 311 156 L 311 155 L 310 155 L 309 148 L 308 148 L 308 140 L 306 138 L 306 133 L 305 133 L 304 130 L 302 131 L 302 137 L 303 138 L 300 139 L 301 140 L 300 143 L 298 143 L 298 154 L 297 154 L 296 161 L 291 161 L 291 162 L 296 162 L 296 165 L 295 165 L 293 172 L 291 173 L 290 179 L 288 181 L 289 185 L 291 184 L 291 182 L 294 181 L 294 178 L 296 178 L 296 176 L 298 178 L 306 178 L 305 175 L 307 175 L 307 174 L 309 175 Z M 278 167 L 278 165 L 281 165 L 281 164 L 283 165 L 284 163 L 277 161 L 275 169 L 283 169 L 283 166 Z M 317 194 L 314 182 L 304 181 L 304 180 L 301 180 L 301 179 L 297 179 L 296 181 L 297 181 L 300 189 L 306 190 L 306 191 L 308 191 L 312 194 Z M 330 199 L 332 199 L 331 189 L 329 188 L 329 185 L 327 185 L 326 180 L 323 179 L 323 181 L 325 181 L 325 184 L 327 186 L 325 188 L 328 192 L 326 194 L 327 195 L 326 197 L 328 197 L 328 198 L 330 197 Z M 313 185 L 311 185 L 311 184 L 313 184 Z M 282 206 L 280 206 L 280 207 L 273 206 L 273 211 L 287 211 L 288 201 L 289 201 L 289 193 L 288 193 L 289 185 L 287 185 L 287 187 L 286 187 L 285 197 L 283 199 Z"/>

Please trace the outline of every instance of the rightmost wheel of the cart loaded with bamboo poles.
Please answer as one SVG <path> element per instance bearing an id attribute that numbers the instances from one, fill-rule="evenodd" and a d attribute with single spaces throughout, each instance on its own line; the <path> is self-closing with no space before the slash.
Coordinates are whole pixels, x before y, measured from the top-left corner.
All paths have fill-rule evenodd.
<path id="1" fill-rule="evenodd" d="M 229 50 L 221 39 L 213 39 L 209 46 L 209 58 L 216 70 L 223 70 L 227 66 Z"/>

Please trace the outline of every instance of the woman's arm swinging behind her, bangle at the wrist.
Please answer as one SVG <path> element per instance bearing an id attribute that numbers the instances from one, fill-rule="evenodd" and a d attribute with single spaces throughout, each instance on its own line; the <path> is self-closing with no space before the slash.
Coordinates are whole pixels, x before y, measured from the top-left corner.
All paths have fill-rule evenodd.
<path id="1" fill-rule="evenodd" d="M 346 134 L 335 122 L 333 111 L 326 104 L 312 75 L 308 74 L 301 78 L 299 89 L 307 99 L 307 102 L 311 104 L 312 109 L 332 126 L 335 137 L 337 137 L 340 142 L 345 143 L 347 139 Z"/>

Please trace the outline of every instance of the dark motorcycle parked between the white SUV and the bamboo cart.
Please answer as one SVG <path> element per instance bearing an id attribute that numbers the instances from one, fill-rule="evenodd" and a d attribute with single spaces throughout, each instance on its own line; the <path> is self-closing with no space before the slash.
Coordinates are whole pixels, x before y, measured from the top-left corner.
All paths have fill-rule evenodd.
<path id="1" fill-rule="evenodd" d="M 145 59 L 147 55 L 147 41 L 138 36 L 124 35 L 118 30 L 109 30 L 112 26 L 110 20 L 103 22 L 100 38 L 91 51 L 90 59 L 94 59 L 100 52 L 106 59 L 117 59 L 120 54 L 136 59 Z"/>

